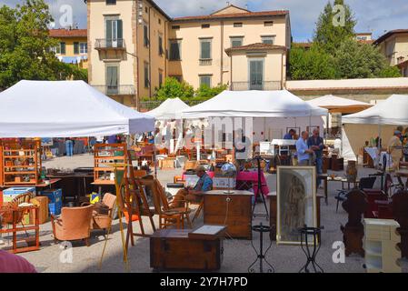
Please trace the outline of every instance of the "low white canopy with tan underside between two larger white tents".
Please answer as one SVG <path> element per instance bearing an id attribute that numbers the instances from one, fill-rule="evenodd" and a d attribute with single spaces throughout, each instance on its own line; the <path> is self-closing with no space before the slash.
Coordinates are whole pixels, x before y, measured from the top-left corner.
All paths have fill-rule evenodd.
<path id="1" fill-rule="evenodd" d="M 310 105 L 329 109 L 329 111 L 332 113 L 355 113 L 373 106 L 369 103 L 337 97 L 334 95 L 323 95 L 322 97 L 314 98 L 306 102 Z"/>

